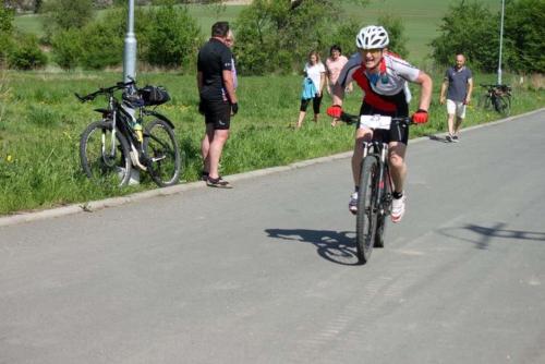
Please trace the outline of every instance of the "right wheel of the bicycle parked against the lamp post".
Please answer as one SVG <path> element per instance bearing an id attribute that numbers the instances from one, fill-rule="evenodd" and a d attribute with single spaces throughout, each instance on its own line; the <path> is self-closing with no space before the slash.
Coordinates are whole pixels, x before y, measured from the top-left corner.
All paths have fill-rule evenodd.
<path id="1" fill-rule="evenodd" d="M 172 128 L 164 120 L 152 121 L 146 125 L 143 146 L 154 182 L 161 187 L 177 184 L 182 158 Z"/>

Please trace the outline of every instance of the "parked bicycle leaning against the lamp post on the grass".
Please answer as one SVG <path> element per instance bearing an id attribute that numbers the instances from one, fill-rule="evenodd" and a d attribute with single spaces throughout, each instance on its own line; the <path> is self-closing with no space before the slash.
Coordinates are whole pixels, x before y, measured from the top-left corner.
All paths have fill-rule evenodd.
<path id="1" fill-rule="evenodd" d="M 120 100 L 116 94 L 121 92 Z M 148 107 L 170 99 L 162 87 L 136 87 L 136 81 L 119 82 L 86 96 L 75 94 L 82 102 L 104 95 L 107 108 L 95 109 L 102 114 L 92 122 L 80 139 L 82 168 L 92 180 L 124 186 L 132 168 L 147 171 L 159 186 L 178 183 L 181 156 L 174 125 L 167 117 Z"/>

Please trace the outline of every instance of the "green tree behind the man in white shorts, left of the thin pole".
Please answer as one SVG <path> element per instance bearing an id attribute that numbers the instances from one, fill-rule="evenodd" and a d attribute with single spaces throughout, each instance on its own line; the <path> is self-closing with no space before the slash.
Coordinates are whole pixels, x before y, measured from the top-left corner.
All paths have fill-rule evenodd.
<path id="1" fill-rule="evenodd" d="M 473 68 L 493 72 L 498 59 L 498 17 L 482 3 L 461 0 L 443 17 L 440 34 L 431 43 L 433 59 L 447 65 L 457 53 L 463 53 Z"/>

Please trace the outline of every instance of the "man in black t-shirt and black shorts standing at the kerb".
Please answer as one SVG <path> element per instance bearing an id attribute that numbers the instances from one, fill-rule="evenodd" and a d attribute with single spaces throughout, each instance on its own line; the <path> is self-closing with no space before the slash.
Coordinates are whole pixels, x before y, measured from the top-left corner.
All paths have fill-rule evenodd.
<path id="1" fill-rule="evenodd" d="M 230 189 L 219 175 L 223 145 L 229 138 L 231 114 L 239 110 L 232 76 L 232 53 L 226 45 L 229 23 L 211 26 L 211 38 L 198 51 L 198 110 L 205 117 L 206 132 L 201 144 L 204 168 L 202 179 L 211 187 Z"/>

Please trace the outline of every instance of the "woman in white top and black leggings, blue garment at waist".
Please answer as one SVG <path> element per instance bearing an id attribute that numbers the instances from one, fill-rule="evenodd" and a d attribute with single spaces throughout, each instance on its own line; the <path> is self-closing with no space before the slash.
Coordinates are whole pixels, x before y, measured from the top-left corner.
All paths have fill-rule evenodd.
<path id="1" fill-rule="evenodd" d="M 310 85 L 311 87 L 305 87 L 305 84 L 303 84 L 304 86 L 303 94 L 301 96 L 301 107 L 299 109 L 298 128 L 301 128 L 303 124 L 306 108 L 308 107 L 308 102 L 311 100 L 313 101 L 314 122 L 318 122 L 322 92 L 324 90 L 324 86 L 326 84 L 326 68 L 324 66 L 324 63 L 320 62 L 318 52 L 313 50 L 308 53 L 308 62 L 305 64 L 304 75 L 304 83 L 308 85 L 310 82 L 312 82 L 312 85 Z M 314 86 L 314 88 L 312 86 Z"/>

